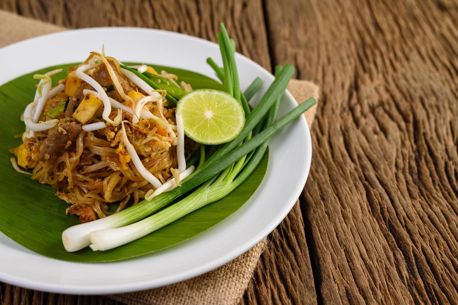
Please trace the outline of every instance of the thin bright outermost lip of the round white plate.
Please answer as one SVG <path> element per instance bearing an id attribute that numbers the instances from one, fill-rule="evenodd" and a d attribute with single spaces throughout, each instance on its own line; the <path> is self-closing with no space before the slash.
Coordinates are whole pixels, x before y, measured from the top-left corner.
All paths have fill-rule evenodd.
<path id="1" fill-rule="evenodd" d="M 187 39 L 196 39 L 199 40 L 205 44 L 208 45 L 215 45 L 214 42 L 208 41 L 206 39 L 202 39 L 200 37 L 195 37 L 189 34 L 185 33 L 177 33 L 177 32 L 172 32 L 168 30 L 161 30 L 161 29 L 151 29 L 151 28 L 139 28 L 139 27 L 96 27 L 96 28 L 81 28 L 81 29 L 70 29 L 70 30 L 65 30 L 65 31 L 59 31 L 55 33 L 47 33 L 44 35 L 32 37 L 29 39 L 24 39 L 22 41 L 15 42 L 13 44 L 9 44 L 5 47 L 0 48 L 0 51 L 3 51 L 5 49 L 17 47 L 20 44 L 27 44 L 30 41 L 33 40 L 40 40 L 49 36 L 58 36 L 61 35 L 62 33 L 69 33 L 69 32 L 91 32 L 94 30 L 108 30 L 108 31 L 116 31 L 119 29 L 127 29 L 127 30 L 136 30 L 136 31 L 145 31 L 145 32 L 157 32 L 157 33 L 167 33 L 169 35 L 176 36 L 178 38 L 187 38 Z M 217 44 L 216 44 L 217 45 Z M 264 67 L 259 65 L 257 62 L 251 60 L 250 58 L 246 57 L 245 55 L 242 55 L 240 53 L 236 53 L 236 56 L 241 56 L 245 58 L 246 60 L 250 61 L 252 64 L 255 66 L 261 68 L 263 71 L 268 73 L 268 77 L 273 80 L 274 77 L 271 74 L 271 72 L 267 71 Z M 60 63 L 56 63 L 60 64 Z M 215 79 L 213 75 L 206 75 L 210 78 Z M 17 77 L 17 76 L 16 76 Z M 11 81 L 12 79 L 16 78 L 13 77 L 9 80 L 6 80 L 6 82 Z M 3 83 L 2 83 L 3 85 Z M 286 97 L 289 100 L 293 100 L 296 104 L 297 101 L 295 100 L 294 96 L 286 90 L 285 92 Z M 283 210 L 283 213 L 281 215 L 273 218 L 270 222 L 268 222 L 268 225 L 266 225 L 260 232 L 255 234 L 255 237 L 251 239 L 247 239 L 242 245 L 240 245 L 238 248 L 235 248 L 229 252 L 227 252 L 225 255 L 219 256 L 216 259 L 212 259 L 208 261 L 204 265 L 197 265 L 193 266 L 191 268 L 186 269 L 185 271 L 181 272 L 176 272 L 173 274 L 169 274 L 167 276 L 161 277 L 160 280 L 153 278 L 145 281 L 138 281 L 138 282 L 131 282 L 131 283 L 122 283 L 122 287 L 113 287 L 112 284 L 104 286 L 104 285 L 98 285 L 98 286 L 88 286 L 88 285 L 68 285 L 68 284 L 51 284 L 51 283 L 42 283 L 36 280 L 29 280 L 28 278 L 23 278 L 23 277 L 15 277 L 14 275 L 11 274 L 6 274 L 5 272 L 2 272 L 0 270 L 0 281 L 3 281 L 5 283 L 9 283 L 12 285 L 24 287 L 24 288 L 30 288 L 30 289 L 35 289 L 35 290 L 40 290 L 40 291 L 47 291 L 51 293 L 63 293 L 63 294 L 112 294 L 112 293 L 125 293 L 125 292 L 134 292 L 134 291 L 139 291 L 139 290 L 145 290 L 145 289 L 150 289 L 150 288 L 157 288 L 157 287 L 162 287 L 166 286 L 169 284 L 173 283 L 178 283 L 187 279 L 190 279 L 192 277 L 199 276 L 201 274 L 204 274 L 206 272 L 209 272 L 215 268 L 218 268 L 219 266 L 224 265 L 225 263 L 232 261 L 236 257 L 239 257 L 240 255 L 244 254 L 248 250 L 250 250 L 252 247 L 254 247 L 256 244 L 258 244 L 263 238 L 265 238 L 268 234 L 270 234 L 280 222 L 284 220 L 284 218 L 289 214 L 289 211 L 293 208 L 294 204 L 296 203 L 297 199 L 299 198 L 300 194 L 302 193 L 302 190 L 304 189 L 305 182 L 308 178 L 309 172 L 310 172 L 310 166 L 311 166 L 311 156 L 312 156 L 312 144 L 311 144 L 311 133 L 310 133 L 310 128 L 308 127 L 308 124 L 305 120 L 305 116 L 301 116 L 300 120 L 300 125 L 302 128 L 304 128 L 305 136 L 306 136 L 306 147 L 310 150 L 309 154 L 305 155 L 305 163 L 304 167 L 301 168 L 301 180 L 298 181 L 294 188 L 294 192 L 289 194 L 288 199 L 285 200 L 285 208 Z M 308 136 L 307 136 L 308 135 Z M 267 173 L 266 173 L 267 175 Z M 223 221 L 224 222 L 224 221 Z M 37 253 L 34 253 L 35 255 L 39 255 Z M 40 255 L 43 256 L 43 255 Z M 54 259 L 53 259 L 54 260 Z M 134 258 L 135 260 L 135 258 Z M 60 260 L 56 260 L 60 261 Z M 66 261 L 60 261 L 64 263 L 73 263 L 73 264 L 79 264 L 75 262 L 66 262 Z M 100 263 L 104 264 L 104 263 Z M 178 274 L 177 274 L 178 273 Z M 160 282 L 160 283 L 159 283 Z"/>

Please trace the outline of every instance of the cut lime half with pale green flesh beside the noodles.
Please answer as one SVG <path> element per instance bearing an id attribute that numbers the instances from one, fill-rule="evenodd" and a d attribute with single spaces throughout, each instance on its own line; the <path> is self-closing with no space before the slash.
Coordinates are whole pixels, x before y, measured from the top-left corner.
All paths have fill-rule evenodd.
<path id="1" fill-rule="evenodd" d="M 185 134 L 202 144 L 221 144 L 234 139 L 245 124 L 240 103 L 226 92 L 198 89 L 185 94 L 176 106 L 182 113 Z"/>

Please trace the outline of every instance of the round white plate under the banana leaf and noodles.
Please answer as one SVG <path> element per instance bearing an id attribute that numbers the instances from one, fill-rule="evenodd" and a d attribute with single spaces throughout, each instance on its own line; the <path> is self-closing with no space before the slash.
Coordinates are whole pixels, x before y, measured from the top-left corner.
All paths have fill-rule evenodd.
<path id="1" fill-rule="evenodd" d="M 129 38 L 136 43 L 121 43 Z M 0 83 L 28 72 L 83 61 L 105 44 L 108 55 L 180 67 L 214 78 L 208 56 L 221 64 L 218 45 L 179 33 L 145 28 L 90 28 L 40 36 L 0 49 Z M 236 55 L 242 89 L 273 76 L 254 61 Z M 257 102 L 260 94 L 255 96 Z M 289 92 L 280 115 L 296 101 Z M 19 118 L 18 118 L 19 119 Z M 284 219 L 299 197 L 311 162 L 311 138 L 303 116 L 269 144 L 266 176 L 251 199 L 223 222 L 181 244 L 135 259 L 83 264 L 38 255 L 0 233 L 0 281 L 65 294 L 111 294 L 159 287 L 196 277 L 249 250 Z"/>

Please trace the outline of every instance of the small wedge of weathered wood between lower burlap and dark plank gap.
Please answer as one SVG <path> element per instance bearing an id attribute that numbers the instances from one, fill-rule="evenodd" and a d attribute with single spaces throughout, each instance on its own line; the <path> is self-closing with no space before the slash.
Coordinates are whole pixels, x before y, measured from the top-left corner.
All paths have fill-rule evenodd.
<path id="1" fill-rule="evenodd" d="M 299 200 L 268 241 L 242 304 L 316 304 Z"/>

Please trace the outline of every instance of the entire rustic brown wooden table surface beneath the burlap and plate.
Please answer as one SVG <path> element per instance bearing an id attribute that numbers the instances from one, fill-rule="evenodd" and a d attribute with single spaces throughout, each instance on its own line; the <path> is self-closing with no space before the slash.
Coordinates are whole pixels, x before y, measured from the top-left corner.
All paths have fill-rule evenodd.
<path id="1" fill-rule="evenodd" d="M 458 3 L 2 0 L 68 28 L 162 28 L 322 88 L 298 204 L 242 303 L 458 303 Z M 290 165 L 285 165 L 290 166 Z M 114 304 L 1 285 L 3 304 Z"/>

